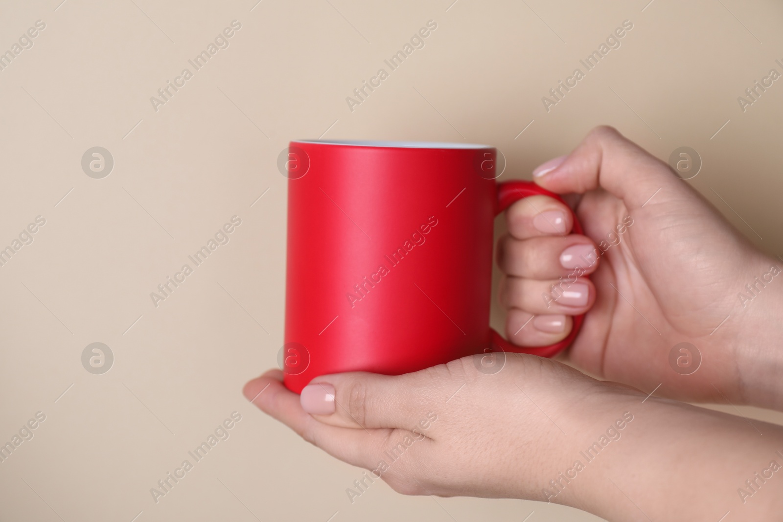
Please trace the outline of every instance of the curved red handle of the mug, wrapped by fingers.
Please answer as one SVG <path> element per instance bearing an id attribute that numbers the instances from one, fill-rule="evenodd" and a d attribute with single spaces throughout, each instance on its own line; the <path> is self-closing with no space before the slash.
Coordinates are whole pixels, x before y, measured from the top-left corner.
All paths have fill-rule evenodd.
<path id="1" fill-rule="evenodd" d="M 514 203 L 515 201 L 525 199 L 528 196 L 539 195 L 550 196 L 551 198 L 554 198 L 555 200 L 565 204 L 565 201 L 563 198 L 561 198 L 561 196 L 552 193 L 547 189 L 543 189 L 535 183 L 524 181 L 503 182 L 497 185 L 495 215 L 505 211 L 508 207 L 511 206 L 511 203 Z M 567 204 L 565 206 L 568 207 Z M 576 214 L 574 214 L 574 211 L 571 207 L 568 207 L 568 210 L 571 211 L 571 217 L 573 218 L 574 223 L 572 232 L 577 234 L 583 233 L 582 225 L 580 225 L 579 221 L 576 219 Z M 568 334 L 568 337 L 566 337 L 564 340 L 561 340 L 559 343 L 550 344 L 550 346 L 517 346 L 516 344 L 511 344 L 509 341 L 505 340 L 503 336 L 500 335 L 500 333 L 495 331 L 495 329 L 490 329 L 492 333 L 492 342 L 493 344 L 496 344 L 498 347 L 500 347 L 500 349 L 503 351 L 514 351 L 520 354 L 539 355 L 540 357 L 554 357 L 554 355 L 557 355 L 561 351 L 565 350 L 565 348 L 567 348 L 573 342 L 574 338 L 576 338 L 576 334 L 579 333 L 579 328 L 582 326 L 583 320 L 584 314 L 575 315 L 573 320 L 573 327 L 571 329 L 571 333 Z"/>

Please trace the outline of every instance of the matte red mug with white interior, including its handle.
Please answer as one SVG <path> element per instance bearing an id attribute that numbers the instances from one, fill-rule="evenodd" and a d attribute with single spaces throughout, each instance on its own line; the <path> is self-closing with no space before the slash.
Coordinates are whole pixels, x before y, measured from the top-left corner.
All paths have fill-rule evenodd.
<path id="1" fill-rule="evenodd" d="M 489 328 L 493 221 L 531 182 L 496 184 L 496 149 L 420 142 L 290 142 L 283 374 L 399 375 L 466 355 L 551 357 Z M 582 229 L 574 216 L 574 232 Z M 478 355 L 482 358 L 482 355 Z"/>

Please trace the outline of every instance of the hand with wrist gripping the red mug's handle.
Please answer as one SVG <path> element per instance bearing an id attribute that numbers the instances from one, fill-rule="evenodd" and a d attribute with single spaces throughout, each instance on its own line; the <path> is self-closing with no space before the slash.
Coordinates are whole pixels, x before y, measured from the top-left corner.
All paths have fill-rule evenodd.
<path id="1" fill-rule="evenodd" d="M 514 344 L 561 340 L 570 315 L 587 311 L 569 356 L 590 373 L 672 398 L 783 409 L 783 262 L 613 128 L 594 129 L 533 179 L 582 195 L 585 236 L 568 235 L 567 209 L 546 196 L 509 209 L 500 299 Z M 670 363 L 680 343 L 695 350 L 676 351 L 673 365 L 700 355 L 695 373 Z"/>

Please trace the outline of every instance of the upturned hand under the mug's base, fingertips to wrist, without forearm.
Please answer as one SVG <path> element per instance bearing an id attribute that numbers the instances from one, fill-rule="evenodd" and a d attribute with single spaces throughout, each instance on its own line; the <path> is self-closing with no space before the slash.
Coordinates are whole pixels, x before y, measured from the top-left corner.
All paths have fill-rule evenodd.
<path id="1" fill-rule="evenodd" d="M 590 410 L 607 424 L 622 415 L 604 412 L 601 383 L 532 355 L 510 355 L 493 375 L 467 357 L 402 376 L 318 377 L 302 391 L 301 405 L 280 380 L 282 373 L 271 371 L 244 394 L 253 399 L 269 386 L 255 405 L 408 495 L 538 496 L 553 463 L 565 457 L 561 428 L 581 427 L 574 412 Z"/>

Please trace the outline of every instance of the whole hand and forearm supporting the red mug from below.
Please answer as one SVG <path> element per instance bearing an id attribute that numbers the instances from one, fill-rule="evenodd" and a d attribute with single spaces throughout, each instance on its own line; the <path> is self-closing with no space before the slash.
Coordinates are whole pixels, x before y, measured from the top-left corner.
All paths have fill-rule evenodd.
<path id="1" fill-rule="evenodd" d="M 301 398 L 273 370 L 244 394 L 367 470 L 345 484 L 347 503 L 380 479 L 406 495 L 534 499 L 609 520 L 774 520 L 783 509 L 783 470 L 770 464 L 783 463 L 780 427 L 645 398 L 533 355 L 508 354 L 486 374 L 482 356 L 401 376 L 321 376 Z"/>

